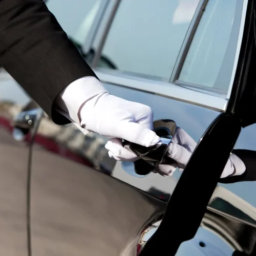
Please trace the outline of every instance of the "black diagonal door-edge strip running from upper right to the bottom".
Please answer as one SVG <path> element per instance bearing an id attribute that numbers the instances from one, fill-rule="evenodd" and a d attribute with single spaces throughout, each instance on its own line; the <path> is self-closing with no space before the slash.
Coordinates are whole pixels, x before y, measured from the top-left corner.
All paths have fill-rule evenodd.
<path id="1" fill-rule="evenodd" d="M 255 112 L 253 111 L 255 102 L 256 77 L 254 75 L 255 61 L 252 56 L 255 55 L 255 5 L 250 2 L 247 8 L 247 18 L 245 20 L 245 31 L 243 35 L 242 47 L 238 62 L 238 70 L 234 79 L 234 85 L 231 92 L 230 101 L 225 113 L 219 115 L 212 122 L 197 148 L 189 159 L 184 169 L 172 197 L 168 202 L 162 225 L 156 231 L 156 234 L 145 246 L 145 254 L 150 254 L 156 248 L 156 244 L 169 240 L 173 236 L 175 241 L 172 248 L 161 247 L 158 252 L 163 254 L 175 255 L 180 244 L 184 241 L 192 239 L 202 221 L 208 202 L 214 193 L 214 190 L 220 180 L 223 169 L 226 165 L 230 152 L 241 133 L 242 127 L 253 124 L 255 121 Z M 248 110 L 251 113 L 248 116 Z M 215 142 L 220 140 L 222 147 Z M 218 151 L 218 153 L 216 153 Z M 218 158 L 218 161 L 216 161 Z M 200 165 L 194 171 L 197 163 Z M 206 175 L 204 166 L 211 163 L 208 167 Z M 203 180 L 200 181 L 200 178 Z M 193 187 L 195 188 L 193 189 Z M 184 193 L 184 187 L 193 191 L 192 193 Z M 199 198 L 200 201 L 193 202 L 193 198 Z M 193 215 L 185 214 L 186 208 L 196 207 L 197 211 Z M 175 225 L 170 220 L 178 220 L 179 225 Z M 186 232 L 184 230 L 187 228 Z M 173 232 L 166 237 L 167 230 L 172 229 Z M 155 240 L 155 241 L 154 241 Z M 165 241 L 164 244 L 166 244 Z M 142 252 L 143 255 L 143 252 Z"/>

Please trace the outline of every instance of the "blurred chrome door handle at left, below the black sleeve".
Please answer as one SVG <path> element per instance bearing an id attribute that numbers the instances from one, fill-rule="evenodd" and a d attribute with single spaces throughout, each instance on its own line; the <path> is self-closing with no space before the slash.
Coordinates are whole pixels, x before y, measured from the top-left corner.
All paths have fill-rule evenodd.
<path id="1" fill-rule="evenodd" d="M 13 120 L 12 136 L 17 141 L 25 139 L 26 135 L 35 127 L 43 111 L 40 108 L 22 111 Z"/>

